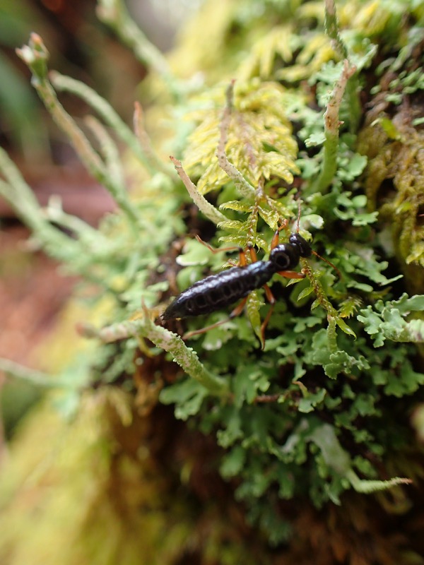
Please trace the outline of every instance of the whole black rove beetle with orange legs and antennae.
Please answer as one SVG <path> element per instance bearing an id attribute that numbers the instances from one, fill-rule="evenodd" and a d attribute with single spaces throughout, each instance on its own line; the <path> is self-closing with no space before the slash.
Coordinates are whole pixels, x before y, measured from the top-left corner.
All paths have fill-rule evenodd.
<path id="1" fill-rule="evenodd" d="M 242 313 L 247 302 L 247 295 L 249 295 L 252 290 L 264 287 L 266 298 L 271 304 L 271 308 L 261 325 L 261 341 L 262 345 L 264 345 L 265 328 L 271 318 L 273 307 L 276 303 L 276 299 L 273 297 L 266 283 L 271 280 L 275 273 L 286 278 L 305 278 L 305 273 L 298 273 L 294 271 L 293 268 L 298 266 L 300 257 L 306 258 L 310 257 L 312 254 L 319 256 L 315 251 L 312 251 L 310 244 L 298 232 L 290 234 L 288 243 L 279 243 L 279 232 L 284 225 L 286 224 L 283 224 L 273 235 L 271 252 L 267 261 L 258 261 L 252 245 L 248 246 L 252 263 L 247 263 L 245 251 L 240 247 L 215 250 L 215 252 L 217 252 L 238 249 L 240 256 L 238 266 L 223 270 L 216 275 L 210 275 L 194 283 L 194 285 L 187 288 L 187 290 L 184 290 L 184 292 L 175 298 L 167 309 L 165 309 L 161 316 L 163 321 L 211 314 L 211 312 L 228 307 L 242 299 L 242 302 L 237 304 L 235 309 L 230 313 L 229 319 L 232 319 Z M 197 239 L 201 243 L 204 243 L 199 237 L 197 237 Z M 214 251 L 211 247 L 209 247 L 209 249 Z M 324 259 L 324 261 L 326 261 L 326 259 Z M 329 263 L 329 261 L 326 262 Z M 204 333 L 227 321 L 228 319 L 221 320 L 206 328 L 186 333 L 183 338 L 189 338 L 192 337 L 192 335 Z"/>

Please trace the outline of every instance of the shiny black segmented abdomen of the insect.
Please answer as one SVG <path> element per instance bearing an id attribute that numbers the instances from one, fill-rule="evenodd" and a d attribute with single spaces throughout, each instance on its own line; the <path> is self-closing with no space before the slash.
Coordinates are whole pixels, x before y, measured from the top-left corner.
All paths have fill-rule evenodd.
<path id="1" fill-rule="evenodd" d="M 162 315 L 164 320 L 210 314 L 246 297 L 269 281 L 273 270 L 266 261 L 232 267 L 211 275 L 184 290 Z"/>

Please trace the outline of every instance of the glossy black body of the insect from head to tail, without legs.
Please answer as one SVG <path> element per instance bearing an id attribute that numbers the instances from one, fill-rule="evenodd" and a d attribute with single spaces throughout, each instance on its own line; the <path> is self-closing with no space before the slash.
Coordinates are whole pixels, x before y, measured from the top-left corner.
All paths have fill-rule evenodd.
<path id="1" fill-rule="evenodd" d="M 232 267 L 194 283 L 167 307 L 162 319 L 200 316 L 231 306 L 264 286 L 275 273 L 292 270 L 298 266 L 300 257 L 311 254 L 310 244 L 298 233 L 291 234 L 288 243 L 271 250 L 267 261 Z"/>

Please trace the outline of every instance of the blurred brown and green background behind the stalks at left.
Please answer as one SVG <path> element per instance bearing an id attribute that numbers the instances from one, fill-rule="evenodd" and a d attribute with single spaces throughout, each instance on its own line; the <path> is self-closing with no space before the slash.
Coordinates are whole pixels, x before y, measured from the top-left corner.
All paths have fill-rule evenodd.
<path id="1" fill-rule="evenodd" d="M 127 8 L 148 38 L 171 49 L 182 21 L 201 0 L 129 0 Z M 59 195 L 64 211 L 97 225 L 114 209 L 110 195 L 89 177 L 63 133 L 30 85 L 16 48 L 31 32 L 42 36 L 49 69 L 93 87 L 131 124 L 134 99 L 146 69 L 96 16 L 95 0 L 0 0 L 0 144 L 16 162 L 42 205 Z M 105 66 L 105 59 L 110 64 Z M 75 119 L 88 112 L 81 100 L 61 95 Z M 54 331 L 74 278 L 28 242 L 29 232 L 0 197 L 0 357 L 37 369 L 35 352 Z M 40 394 L 6 381 L 0 372 L 1 443 Z M 13 400 L 13 401 L 12 401 Z"/>

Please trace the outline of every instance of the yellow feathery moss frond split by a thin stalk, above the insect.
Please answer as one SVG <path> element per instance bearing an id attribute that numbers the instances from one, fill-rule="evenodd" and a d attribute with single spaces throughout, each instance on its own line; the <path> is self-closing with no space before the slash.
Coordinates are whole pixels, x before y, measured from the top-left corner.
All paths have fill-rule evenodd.
<path id="1" fill-rule="evenodd" d="M 199 177 L 201 194 L 221 189 L 228 177 L 216 157 L 223 91 L 213 100 L 214 109 L 199 110 L 191 118 L 201 122 L 189 138 L 184 167 Z M 277 177 L 291 184 L 298 172 L 295 158 L 298 146 L 292 135 L 285 108 L 284 89 L 276 83 L 235 83 L 234 108 L 228 129 L 226 153 L 229 160 L 253 186 L 263 179 Z"/>

